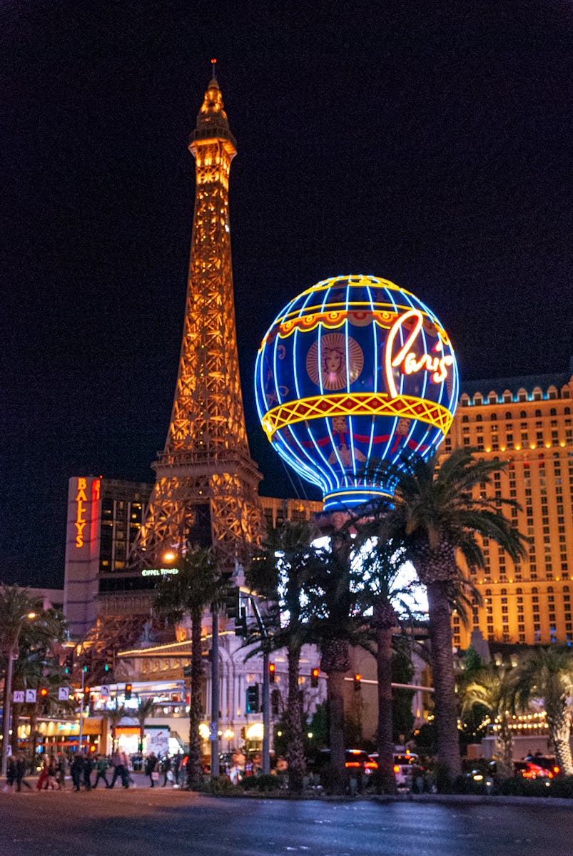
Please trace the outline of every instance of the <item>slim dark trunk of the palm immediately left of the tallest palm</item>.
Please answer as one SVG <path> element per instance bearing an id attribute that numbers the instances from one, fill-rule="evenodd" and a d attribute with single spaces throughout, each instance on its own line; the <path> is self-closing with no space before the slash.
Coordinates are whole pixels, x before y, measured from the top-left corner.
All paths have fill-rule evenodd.
<path id="1" fill-rule="evenodd" d="M 377 627 L 378 781 L 382 794 L 396 794 L 392 728 L 392 628 Z"/>

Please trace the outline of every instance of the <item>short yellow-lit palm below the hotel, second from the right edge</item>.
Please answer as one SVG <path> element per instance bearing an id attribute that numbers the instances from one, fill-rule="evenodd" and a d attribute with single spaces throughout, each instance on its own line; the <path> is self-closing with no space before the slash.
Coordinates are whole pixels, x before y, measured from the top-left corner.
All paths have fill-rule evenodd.
<path id="1" fill-rule="evenodd" d="M 510 716 L 516 689 L 516 669 L 482 666 L 463 687 L 462 714 L 485 708 L 495 725 L 495 757 L 500 776 L 513 775 L 513 735 Z"/>

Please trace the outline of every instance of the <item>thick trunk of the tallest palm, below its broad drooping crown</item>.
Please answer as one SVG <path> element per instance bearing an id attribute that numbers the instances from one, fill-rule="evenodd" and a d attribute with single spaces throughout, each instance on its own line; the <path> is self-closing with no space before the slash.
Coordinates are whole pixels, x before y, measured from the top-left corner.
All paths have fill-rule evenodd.
<path id="1" fill-rule="evenodd" d="M 456 681 L 451 652 L 450 603 L 446 583 L 436 580 L 427 585 L 428 615 L 438 744 L 438 788 L 445 788 L 462 772 L 457 730 Z"/>

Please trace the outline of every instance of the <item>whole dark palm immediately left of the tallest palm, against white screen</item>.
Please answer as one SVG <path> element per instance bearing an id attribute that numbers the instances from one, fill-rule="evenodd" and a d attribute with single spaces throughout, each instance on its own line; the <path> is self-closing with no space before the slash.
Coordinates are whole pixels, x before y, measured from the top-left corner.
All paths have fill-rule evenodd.
<path id="1" fill-rule="evenodd" d="M 372 627 L 376 639 L 376 670 L 378 678 L 378 755 L 379 788 L 385 794 L 396 793 L 394 776 L 394 740 L 392 728 L 392 638 L 399 627 L 397 609 L 409 613 L 404 597 L 408 589 L 399 585 L 398 575 L 404 561 L 403 544 L 381 536 L 370 539 L 370 520 L 360 526 L 358 538 L 363 544 L 357 550 L 361 556 L 361 584 L 358 605 L 362 619 Z"/>

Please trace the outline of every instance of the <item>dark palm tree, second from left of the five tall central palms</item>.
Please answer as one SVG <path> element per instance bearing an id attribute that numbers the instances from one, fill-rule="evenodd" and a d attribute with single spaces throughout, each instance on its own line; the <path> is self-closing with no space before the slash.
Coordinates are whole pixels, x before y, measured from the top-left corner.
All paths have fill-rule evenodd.
<path id="1" fill-rule="evenodd" d="M 307 579 L 309 547 L 318 533 L 307 520 L 285 521 L 270 529 L 262 549 L 248 568 L 247 584 L 265 597 L 269 609 L 265 616 L 267 652 L 286 648 L 289 686 L 284 716 L 289 764 L 289 788 L 302 789 L 306 770 L 302 738 L 302 700 L 299 688 L 301 648 L 308 641 L 307 610 L 301 599 Z M 251 639 L 249 639 L 251 641 Z M 260 645 L 253 651 L 260 651 Z"/>

